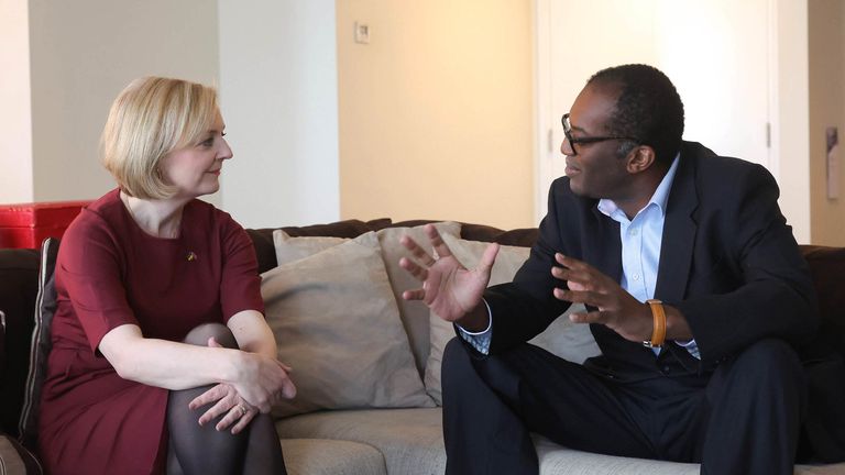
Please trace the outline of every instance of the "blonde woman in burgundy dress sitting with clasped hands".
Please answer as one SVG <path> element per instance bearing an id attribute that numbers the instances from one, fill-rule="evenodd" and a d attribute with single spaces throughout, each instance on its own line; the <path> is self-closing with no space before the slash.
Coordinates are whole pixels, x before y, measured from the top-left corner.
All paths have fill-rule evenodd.
<path id="1" fill-rule="evenodd" d="M 56 262 L 39 443 L 48 473 L 285 473 L 268 411 L 296 388 L 243 229 L 197 200 L 232 152 L 213 89 L 143 78 L 111 107 L 118 189 Z M 165 468 L 166 467 L 166 468 Z"/>

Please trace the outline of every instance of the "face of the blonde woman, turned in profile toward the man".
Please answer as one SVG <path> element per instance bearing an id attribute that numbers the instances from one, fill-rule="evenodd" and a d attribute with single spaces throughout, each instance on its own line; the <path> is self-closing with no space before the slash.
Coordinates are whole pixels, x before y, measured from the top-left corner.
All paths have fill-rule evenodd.
<path id="1" fill-rule="evenodd" d="M 176 187 L 174 198 L 196 198 L 220 188 L 223 161 L 232 157 L 223 139 L 224 129 L 223 118 L 218 113 L 211 129 L 197 143 L 175 150 L 162 159 L 164 181 Z"/>

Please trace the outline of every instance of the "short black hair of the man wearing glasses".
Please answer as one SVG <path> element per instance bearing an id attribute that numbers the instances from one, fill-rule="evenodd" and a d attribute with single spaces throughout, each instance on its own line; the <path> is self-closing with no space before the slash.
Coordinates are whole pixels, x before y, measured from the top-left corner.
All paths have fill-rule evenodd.
<path id="1" fill-rule="evenodd" d="M 652 66 L 629 64 L 602 69 L 586 84 L 619 90 L 608 134 L 639 139 L 655 150 L 658 163 L 671 163 L 681 147 L 683 102 L 663 73 Z M 623 143 L 619 154 L 626 155 L 633 147 L 630 142 Z"/>

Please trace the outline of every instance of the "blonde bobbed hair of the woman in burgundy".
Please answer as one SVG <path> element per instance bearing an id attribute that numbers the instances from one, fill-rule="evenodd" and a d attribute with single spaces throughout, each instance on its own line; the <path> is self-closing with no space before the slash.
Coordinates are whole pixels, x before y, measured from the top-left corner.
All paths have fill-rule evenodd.
<path id="1" fill-rule="evenodd" d="M 196 143 L 217 114 L 217 90 L 182 79 L 144 77 L 114 99 L 100 137 L 102 164 L 130 196 L 175 194 L 158 167 L 168 153 Z"/>

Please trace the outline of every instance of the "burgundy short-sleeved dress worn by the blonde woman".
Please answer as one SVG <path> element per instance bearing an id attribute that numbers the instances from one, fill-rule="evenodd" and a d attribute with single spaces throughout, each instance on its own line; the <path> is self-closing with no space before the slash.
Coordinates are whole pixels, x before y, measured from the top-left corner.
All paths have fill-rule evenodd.
<path id="1" fill-rule="evenodd" d="M 182 341 L 194 327 L 263 312 L 255 252 L 232 218 L 190 201 L 179 238 L 146 234 L 110 191 L 70 224 L 56 262 L 57 310 L 39 444 L 51 475 L 164 473 L 167 390 L 121 378 L 97 350 L 116 327 Z"/>

